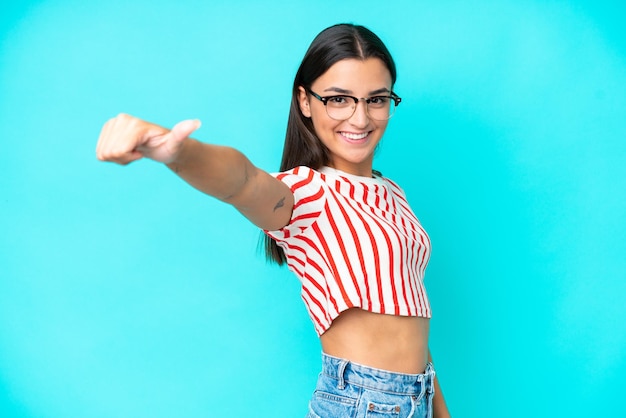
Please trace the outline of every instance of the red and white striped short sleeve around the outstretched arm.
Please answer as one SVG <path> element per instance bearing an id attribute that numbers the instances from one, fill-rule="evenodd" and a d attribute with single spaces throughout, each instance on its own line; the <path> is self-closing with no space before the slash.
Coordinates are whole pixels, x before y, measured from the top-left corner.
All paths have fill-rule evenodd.
<path id="1" fill-rule="evenodd" d="M 300 235 L 320 216 L 326 201 L 326 183 L 321 173 L 309 167 L 296 167 L 289 171 L 272 173 L 272 176 L 285 183 L 294 197 L 289 223 L 276 231 L 264 231 L 281 242 Z"/>

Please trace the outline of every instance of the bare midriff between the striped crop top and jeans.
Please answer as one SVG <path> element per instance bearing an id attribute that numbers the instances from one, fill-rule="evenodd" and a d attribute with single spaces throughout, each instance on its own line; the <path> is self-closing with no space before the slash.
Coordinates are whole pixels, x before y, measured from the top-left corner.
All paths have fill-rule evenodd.
<path id="1" fill-rule="evenodd" d="M 349 309 L 322 334 L 324 353 L 396 373 L 423 373 L 429 320 Z"/>

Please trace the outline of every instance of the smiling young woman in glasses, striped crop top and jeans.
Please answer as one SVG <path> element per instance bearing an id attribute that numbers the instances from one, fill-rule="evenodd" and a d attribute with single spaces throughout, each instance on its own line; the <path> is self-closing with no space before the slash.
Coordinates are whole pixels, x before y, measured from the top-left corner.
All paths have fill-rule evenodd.
<path id="1" fill-rule="evenodd" d="M 301 280 L 322 344 L 309 417 L 449 416 L 428 350 L 430 241 L 402 190 L 372 169 L 401 100 L 395 81 L 374 33 L 322 31 L 296 74 L 277 174 L 189 138 L 194 120 L 168 130 L 121 114 L 98 141 L 100 160 L 163 162 L 265 232 L 268 257 Z"/>

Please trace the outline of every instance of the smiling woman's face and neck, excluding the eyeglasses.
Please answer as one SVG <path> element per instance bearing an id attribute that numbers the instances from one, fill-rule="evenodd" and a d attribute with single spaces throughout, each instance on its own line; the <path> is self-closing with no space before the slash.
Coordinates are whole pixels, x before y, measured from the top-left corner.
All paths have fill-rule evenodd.
<path id="1" fill-rule="evenodd" d="M 322 97 L 350 95 L 358 98 L 386 95 L 391 92 L 391 75 L 378 58 L 344 59 L 336 62 L 311 85 Z M 311 118 L 318 138 L 330 151 L 329 165 L 346 173 L 371 177 L 374 151 L 380 142 L 387 120 L 371 119 L 366 103 L 360 100 L 352 116 L 332 119 L 324 104 L 300 87 L 302 114 Z"/>

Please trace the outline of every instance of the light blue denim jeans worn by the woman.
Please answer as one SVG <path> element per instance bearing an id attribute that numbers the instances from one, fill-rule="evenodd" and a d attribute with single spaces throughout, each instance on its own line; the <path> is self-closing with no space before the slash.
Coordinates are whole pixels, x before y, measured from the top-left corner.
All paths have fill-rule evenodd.
<path id="1" fill-rule="evenodd" d="M 307 418 L 432 418 L 435 371 L 374 369 L 322 353 L 322 372 Z"/>

